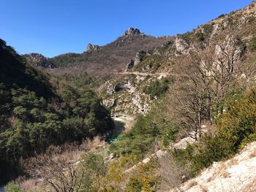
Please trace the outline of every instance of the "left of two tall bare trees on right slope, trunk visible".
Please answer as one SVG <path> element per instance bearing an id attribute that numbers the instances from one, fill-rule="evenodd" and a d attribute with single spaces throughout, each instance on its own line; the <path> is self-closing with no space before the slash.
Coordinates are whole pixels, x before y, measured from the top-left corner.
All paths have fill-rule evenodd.
<path id="1" fill-rule="evenodd" d="M 201 125 L 204 118 L 211 117 L 210 60 L 203 53 L 191 52 L 184 58 L 181 77 L 176 78 L 173 88 L 176 112 L 181 115 L 181 124 L 194 131 L 190 136 L 201 137 Z"/>

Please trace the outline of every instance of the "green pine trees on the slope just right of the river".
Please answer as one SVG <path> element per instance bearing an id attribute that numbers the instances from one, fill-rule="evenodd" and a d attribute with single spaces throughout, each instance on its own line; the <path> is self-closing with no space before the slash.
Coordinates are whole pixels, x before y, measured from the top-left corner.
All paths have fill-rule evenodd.
<path id="1" fill-rule="evenodd" d="M 154 147 L 161 147 L 162 141 L 164 146 L 174 142 L 179 130 L 173 126 L 168 116 L 167 106 L 164 104 L 166 99 L 159 100 L 147 115 L 138 116 L 132 129 L 111 143 L 110 152 L 118 156 L 131 155 L 131 161 L 136 163 L 146 153 L 155 150 Z M 156 141 L 160 141 L 160 144 Z"/>

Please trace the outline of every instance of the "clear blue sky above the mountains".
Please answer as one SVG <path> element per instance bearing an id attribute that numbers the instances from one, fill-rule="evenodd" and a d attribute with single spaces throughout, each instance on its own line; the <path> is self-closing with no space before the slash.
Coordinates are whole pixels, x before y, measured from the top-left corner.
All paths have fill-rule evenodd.
<path id="1" fill-rule="evenodd" d="M 0 0 L 0 38 L 18 53 L 82 53 L 129 27 L 153 36 L 191 31 L 252 0 Z"/>

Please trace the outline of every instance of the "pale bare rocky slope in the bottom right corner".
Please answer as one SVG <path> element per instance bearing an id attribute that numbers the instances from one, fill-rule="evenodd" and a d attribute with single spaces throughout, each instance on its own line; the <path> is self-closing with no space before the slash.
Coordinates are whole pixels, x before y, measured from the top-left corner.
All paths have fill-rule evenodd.
<path id="1" fill-rule="evenodd" d="M 215 162 L 197 177 L 181 185 L 181 188 L 170 191 L 255 191 L 255 151 L 256 142 L 252 142 L 230 160 Z"/>

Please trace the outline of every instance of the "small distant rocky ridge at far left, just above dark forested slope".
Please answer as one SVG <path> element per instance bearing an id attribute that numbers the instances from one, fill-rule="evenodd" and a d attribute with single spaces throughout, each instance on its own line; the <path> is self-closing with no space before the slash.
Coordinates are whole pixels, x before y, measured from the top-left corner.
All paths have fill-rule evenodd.
<path id="1" fill-rule="evenodd" d="M 49 58 L 46 58 L 44 55 L 41 55 L 39 53 L 30 53 L 28 55 L 23 55 L 27 61 L 31 64 L 34 64 L 35 66 L 41 66 L 43 68 L 56 68 L 56 65 L 53 64 L 52 61 L 49 60 Z"/>

